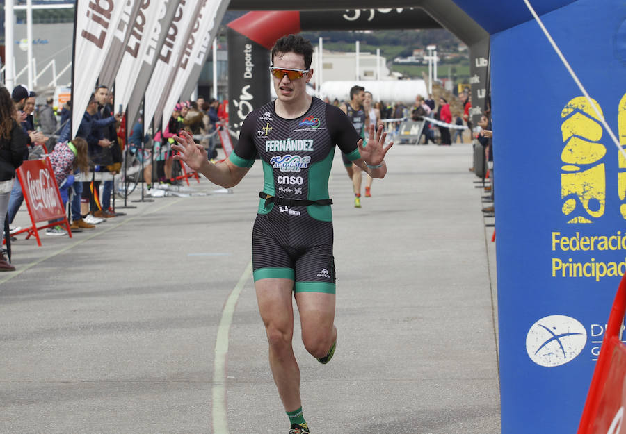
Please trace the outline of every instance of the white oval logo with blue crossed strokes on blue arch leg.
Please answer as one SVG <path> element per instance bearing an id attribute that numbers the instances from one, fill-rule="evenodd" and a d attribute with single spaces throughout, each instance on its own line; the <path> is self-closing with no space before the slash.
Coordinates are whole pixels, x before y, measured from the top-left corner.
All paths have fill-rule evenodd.
<path id="1" fill-rule="evenodd" d="M 537 365 L 554 367 L 571 362 L 584 349 L 587 331 L 572 317 L 550 315 L 528 331 L 526 351 Z"/>

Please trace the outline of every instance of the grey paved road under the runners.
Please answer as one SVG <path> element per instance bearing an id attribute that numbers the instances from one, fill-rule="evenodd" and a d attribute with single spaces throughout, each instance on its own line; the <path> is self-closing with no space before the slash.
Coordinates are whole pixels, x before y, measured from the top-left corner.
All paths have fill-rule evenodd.
<path id="1" fill-rule="evenodd" d="M 340 158 L 335 358 L 296 326 L 314 434 L 496 434 L 495 260 L 471 147 L 400 146 L 352 206 Z M 138 203 L 67 237 L 23 236 L 0 275 L 0 433 L 281 433 L 250 277 L 262 168 L 232 194 Z M 25 210 L 17 224 L 27 221 Z"/>

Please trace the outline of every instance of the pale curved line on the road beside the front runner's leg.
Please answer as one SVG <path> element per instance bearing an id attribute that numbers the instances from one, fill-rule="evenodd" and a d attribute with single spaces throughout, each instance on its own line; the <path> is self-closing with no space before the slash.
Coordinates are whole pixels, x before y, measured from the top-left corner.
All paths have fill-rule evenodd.
<path id="1" fill-rule="evenodd" d="M 226 354 L 228 353 L 228 334 L 234 308 L 239 294 L 252 274 L 252 261 L 241 274 L 239 282 L 230 292 L 222 310 L 222 319 L 215 341 L 215 360 L 213 368 L 213 434 L 228 434 L 228 410 L 226 408 Z"/>

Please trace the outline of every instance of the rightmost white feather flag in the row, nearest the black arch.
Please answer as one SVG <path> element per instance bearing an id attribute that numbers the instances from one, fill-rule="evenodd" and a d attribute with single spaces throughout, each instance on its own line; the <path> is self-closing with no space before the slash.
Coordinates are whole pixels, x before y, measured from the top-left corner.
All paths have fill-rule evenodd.
<path id="1" fill-rule="evenodd" d="M 225 5 L 223 3 L 225 3 Z M 213 30 L 216 27 L 216 15 L 218 10 L 220 10 L 220 6 L 222 6 L 222 15 L 217 21 L 219 26 L 228 3 L 228 1 L 216 0 L 204 0 L 202 2 L 202 8 L 200 8 L 200 12 L 196 15 L 195 23 L 191 28 L 191 35 L 189 35 L 183 47 L 182 58 L 176 65 L 176 69 L 172 71 L 172 79 L 170 80 L 172 87 L 170 88 L 168 97 L 164 100 L 163 107 L 159 107 L 162 110 L 161 122 L 163 124 L 163 130 L 170 119 L 174 106 L 182 96 L 194 66 L 199 64 L 200 69 L 202 69 L 204 60 L 206 60 L 211 49 L 213 36 L 216 33 L 216 30 Z M 211 32 L 211 30 L 213 31 Z M 195 80 L 197 81 L 198 77 L 196 77 Z M 195 85 L 195 83 L 193 84 Z M 189 95 L 185 96 L 188 97 Z"/>

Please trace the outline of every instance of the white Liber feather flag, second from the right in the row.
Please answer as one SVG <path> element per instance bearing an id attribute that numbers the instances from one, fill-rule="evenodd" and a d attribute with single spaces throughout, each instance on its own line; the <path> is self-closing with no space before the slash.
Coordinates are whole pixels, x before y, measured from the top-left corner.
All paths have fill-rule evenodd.
<path id="1" fill-rule="evenodd" d="M 191 33 L 192 19 L 197 15 L 202 3 L 191 0 L 181 0 L 178 10 L 172 19 L 172 24 L 168 28 L 163 47 L 157 56 L 157 65 L 154 66 L 150 83 L 145 92 L 144 125 L 150 124 L 152 118 L 157 114 L 157 107 L 161 99 L 165 98 L 172 85 L 168 82 L 170 73 L 175 69 L 179 53 L 187 41 L 187 36 Z M 161 113 L 159 113 L 160 117 Z M 154 119 L 159 122 L 161 119 Z"/>

